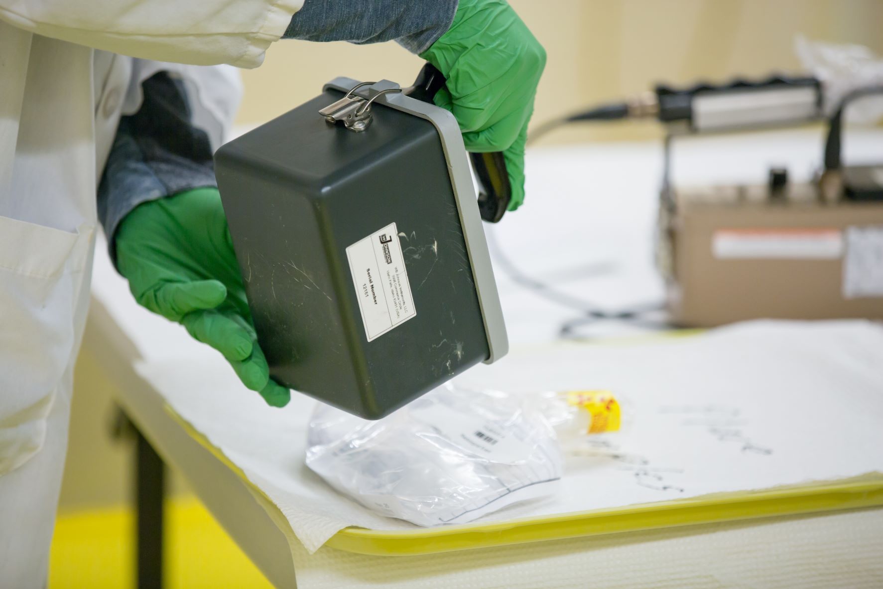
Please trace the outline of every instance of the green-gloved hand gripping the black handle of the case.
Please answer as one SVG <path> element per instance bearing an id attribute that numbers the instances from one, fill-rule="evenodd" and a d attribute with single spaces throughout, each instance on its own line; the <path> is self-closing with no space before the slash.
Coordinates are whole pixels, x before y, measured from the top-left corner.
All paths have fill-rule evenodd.
<path id="1" fill-rule="evenodd" d="M 434 102 L 450 110 L 468 151 L 502 151 L 509 210 L 525 200 L 525 142 L 546 51 L 505 0 L 460 0 L 448 32 L 420 54 L 448 80 Z"/>

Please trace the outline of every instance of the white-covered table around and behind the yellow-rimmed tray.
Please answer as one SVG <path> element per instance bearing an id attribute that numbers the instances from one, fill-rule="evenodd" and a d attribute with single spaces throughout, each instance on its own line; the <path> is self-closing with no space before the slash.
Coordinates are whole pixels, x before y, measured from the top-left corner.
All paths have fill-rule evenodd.
<path id="1" fill-rule="evenodd" d="M 883 160 L 883 133 L 857 133 L 847 147 L 851 160 L 874 155 Z M 762 182 L 770 165 L 787 165 L 792 178 L 808 177 L 820 154 L 820 134 L 813 131 L 687 140 L 675 151 L 675 179 Z M 490 228 L 494 242 L 526 274 L 593 306 L 615 311 L 660 303 L 662 283 L 653 268 L 660 170 L 661 149 L 655 143 L 535 149 L 528 154 L 525 206 Z M 163 411 L 162 391 L 148 387 L 132 370 L 139 358 L 184 357 L 198 366 L 200 358 L 216 352 L 137 306 L 104 245 L 98 249 L 84 345 L 106 359 L 119 402 L 162 457 L 182 472 L 277 586 L 883 586 L 883 510 L 406 558 L 331 548 L 309 556 L 297 546 L 290 549 L 289 531 L 275 524 L 235 473 Z M 562 321 L 577 316 L 518 286 L 499 269 L 497 281 L 513 346 L 552 341 Z M 603 321 L 580 333 L 644 329 Z M 464 578 L 474 582 L 464 585 Z"/>

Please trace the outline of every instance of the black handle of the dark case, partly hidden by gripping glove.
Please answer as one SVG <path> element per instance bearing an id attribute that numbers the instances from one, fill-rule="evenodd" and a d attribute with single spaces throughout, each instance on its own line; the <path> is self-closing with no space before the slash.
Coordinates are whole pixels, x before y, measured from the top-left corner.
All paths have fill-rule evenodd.
<path id="1" fill-rule="evenodd" d="M 405 88 L 403 94 L 423 102 L 433 102 L 435 94 L 447 80 L 442 72 L 433 64 L 425 64 L 417 74 L 411 87 Z M 479 211 L 481 218 L 489 223 L 497 223 L 509 207 L 512 199 L 512 186 L 509 184 L 509 173 L 502 151 L 493 153 L 470 153 L 472 169 L 479 180 Z"/>

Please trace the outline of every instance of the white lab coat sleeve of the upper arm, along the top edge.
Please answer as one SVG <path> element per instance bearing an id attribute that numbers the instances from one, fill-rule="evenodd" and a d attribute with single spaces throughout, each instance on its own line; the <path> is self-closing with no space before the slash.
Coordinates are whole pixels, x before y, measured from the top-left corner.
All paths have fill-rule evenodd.
<path id="1" fill-rule="evenodd" d="M 0 19 L 126 56 L 257 67 L 304 0 L 0 0 Z"/>

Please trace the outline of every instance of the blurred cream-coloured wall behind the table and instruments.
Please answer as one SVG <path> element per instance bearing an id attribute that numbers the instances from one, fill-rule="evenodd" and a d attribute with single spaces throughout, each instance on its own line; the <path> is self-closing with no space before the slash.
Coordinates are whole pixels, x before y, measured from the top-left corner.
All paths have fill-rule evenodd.
<path id="1" fill-rule="evenodd" d="M 310 0 L 307 0 L 309 2 Z M 883 53 L 881 0 L 512 0 L 546 47 L 548 64 L 534 123 L 657 80 L 727 79 L 794 70 L 793 38 L 856 42 Z M 421 62 L 395 43 L 278 42 L 259 69 L 243 72 L 238 123 L 254 125 L 312 98 L 336 76 L 410 83 Z M 556 132 L 548 142 L 653 137 L 655 125 L 596 125 Z M 113 386 L 100 359 L 77 366 L 62 507 L 122 502 L 129 445 L 111 442 Z"/>

